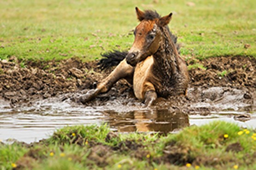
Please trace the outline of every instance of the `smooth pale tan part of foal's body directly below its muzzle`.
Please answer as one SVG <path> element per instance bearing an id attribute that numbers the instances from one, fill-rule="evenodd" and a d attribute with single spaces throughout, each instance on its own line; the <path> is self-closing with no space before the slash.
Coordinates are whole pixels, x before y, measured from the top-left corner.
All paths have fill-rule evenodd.
<path id="1" fill-rule="evenodd" d="M 147 57 L 144 61 L 136 65 L 133 75 L 133 90 L 135 96 L 143 100 L 144 93 L 150 89 L 155 89 L 154 85 L 149 82 L 152 79 L 152 66 L 154 63 L 153 56 Z"/>

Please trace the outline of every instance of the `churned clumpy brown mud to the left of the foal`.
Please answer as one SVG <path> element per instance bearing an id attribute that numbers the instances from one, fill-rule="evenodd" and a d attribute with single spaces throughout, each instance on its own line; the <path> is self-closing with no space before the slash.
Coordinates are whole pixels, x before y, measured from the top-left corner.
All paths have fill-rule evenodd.
<path id="1" fill-rule="evenodd" d="M 93 88 L 96 79 L 101 79 L 93 71 L 95 65 L 75 58 L 25 64 L 0 61 L 0 98 L 16 104 Z"/>

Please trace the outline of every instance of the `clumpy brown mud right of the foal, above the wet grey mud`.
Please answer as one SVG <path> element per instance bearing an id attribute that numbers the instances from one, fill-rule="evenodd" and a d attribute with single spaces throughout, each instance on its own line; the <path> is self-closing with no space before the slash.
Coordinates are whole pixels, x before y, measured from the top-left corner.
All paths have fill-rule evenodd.
<path id="1" fill-rule="evenodd" d="M 188 61 L 193 64 L 192 61 Z M 249 57 L 212 57 L 199 61 L 204 68 L 189 72 L 191 86 L 256 88 L 256 59 Z"/>

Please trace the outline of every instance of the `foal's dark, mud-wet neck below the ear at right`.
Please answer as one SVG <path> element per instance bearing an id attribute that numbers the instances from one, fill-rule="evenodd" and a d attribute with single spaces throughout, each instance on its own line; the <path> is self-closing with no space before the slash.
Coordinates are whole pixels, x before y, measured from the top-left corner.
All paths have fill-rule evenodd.
<path id="1" fill-rule="evenodd" d="M 164 79 L 171 79 L 177 72 L 178 51 L 171 40 L 167 29 L 163 29 L 163 42 L 158 51 L 154 54 L 154 65 L 158 74 Z"/>

